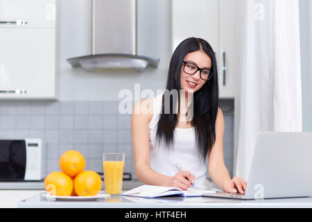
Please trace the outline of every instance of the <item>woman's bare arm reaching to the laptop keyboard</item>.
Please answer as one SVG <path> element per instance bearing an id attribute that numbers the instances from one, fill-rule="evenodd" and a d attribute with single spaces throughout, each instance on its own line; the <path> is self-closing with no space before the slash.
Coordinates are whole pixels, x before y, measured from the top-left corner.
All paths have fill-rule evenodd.
<path id="1" fill-rule="evenodd" d="M 221 190 L 227 193 L 241 193 L 243 194 L 247 187 L 247 182 L 242 178 L 234 177 L 230 178 L 229 171 L 224 164 L 223 157 L 223 135 L 224 135 L 224 118 L 220 108 L 218 108 L 218 114 L 216 117 L 216 141 L 211 148 L 211 152 L 208 155 L 208 171 L 211 180 Z"/>

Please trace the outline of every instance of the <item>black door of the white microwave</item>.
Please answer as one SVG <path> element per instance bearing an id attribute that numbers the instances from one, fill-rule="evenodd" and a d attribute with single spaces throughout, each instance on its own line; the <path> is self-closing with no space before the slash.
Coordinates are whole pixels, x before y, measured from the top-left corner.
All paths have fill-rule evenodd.
<path id="1" fill-rule="evenodd" d="M 0 180 L 24 180 L 25 171 L 25 140 L 0 139 Z"/>

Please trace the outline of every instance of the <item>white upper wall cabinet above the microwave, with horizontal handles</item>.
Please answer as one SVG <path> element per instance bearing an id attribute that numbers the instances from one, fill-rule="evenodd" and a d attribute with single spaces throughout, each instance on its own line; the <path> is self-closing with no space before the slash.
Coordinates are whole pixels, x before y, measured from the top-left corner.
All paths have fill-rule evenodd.
<path id="1" fill-rule="evenodd" d="M 0 99 L 55 97 L 55 1 L 0 0 Z"/>

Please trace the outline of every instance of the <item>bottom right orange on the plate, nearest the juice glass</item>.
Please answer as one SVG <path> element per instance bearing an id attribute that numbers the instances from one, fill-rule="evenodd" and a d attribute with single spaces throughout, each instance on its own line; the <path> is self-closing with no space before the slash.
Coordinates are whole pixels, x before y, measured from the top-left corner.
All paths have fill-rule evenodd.
<path id="1" fill-rule="evenodd" d="M 73 180 L 78 196 L 96 196 L 102 189 L 102 178 L 94 171 L 83 171 Z"/>

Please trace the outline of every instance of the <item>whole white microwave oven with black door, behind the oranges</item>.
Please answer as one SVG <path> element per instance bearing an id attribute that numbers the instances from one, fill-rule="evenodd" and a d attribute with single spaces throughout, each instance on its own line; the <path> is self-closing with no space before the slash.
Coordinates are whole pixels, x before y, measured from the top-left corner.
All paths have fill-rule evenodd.
<path id="1" fill-rule="evenodd" d="M 42 139 L 0 139 L 0 181 L 44 178 Z"/>

